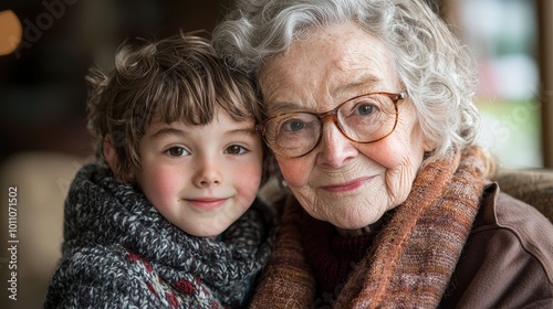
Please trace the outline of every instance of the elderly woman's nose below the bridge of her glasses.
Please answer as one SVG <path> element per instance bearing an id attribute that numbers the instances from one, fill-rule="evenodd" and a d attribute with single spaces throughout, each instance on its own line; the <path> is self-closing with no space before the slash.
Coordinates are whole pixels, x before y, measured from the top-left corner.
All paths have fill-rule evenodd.
<path id="1" fill-rule="evenodd" d="M 342 167 L 357 156 L 358 150 L 354 143 L 342 134 L 335 121 L 324 121 L 321 143 L 317 149 L 317 163 L 332 168 Z"/>

